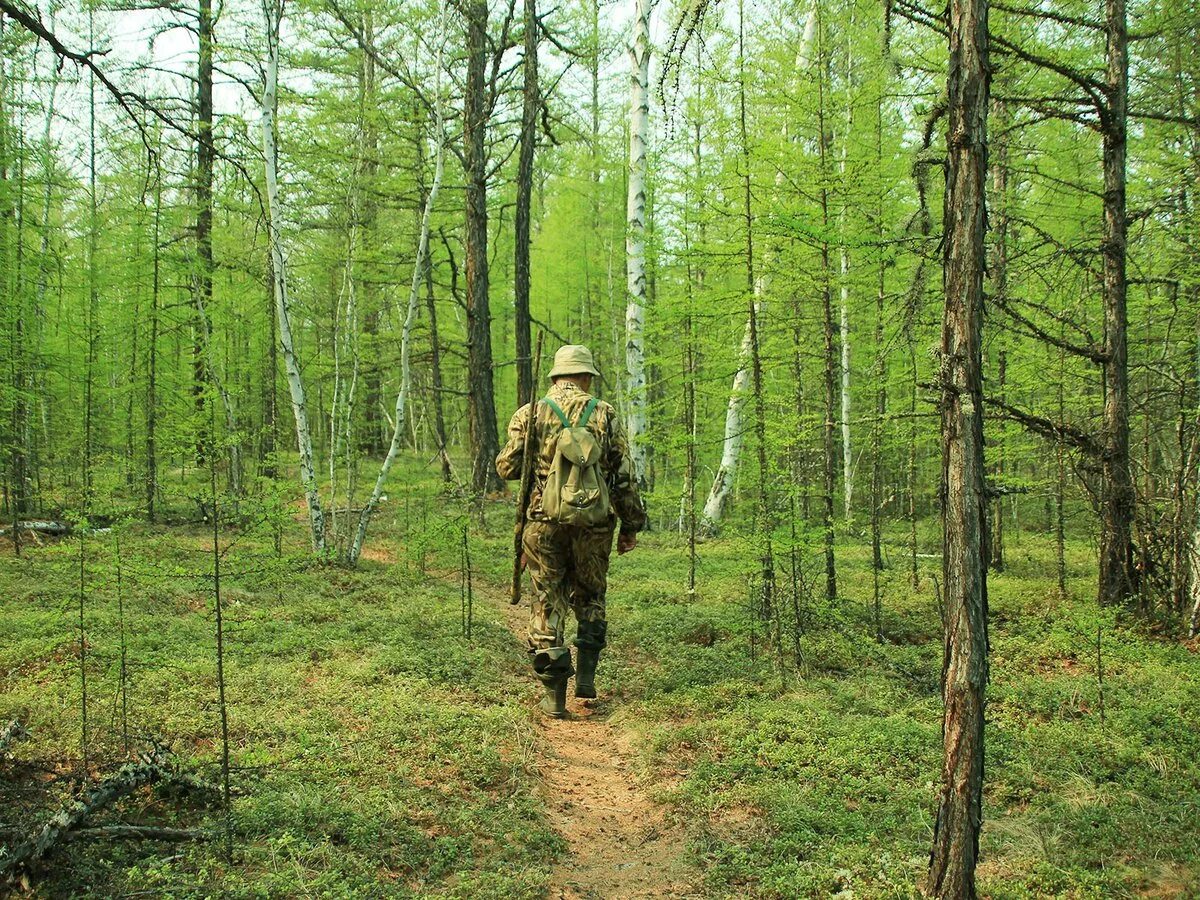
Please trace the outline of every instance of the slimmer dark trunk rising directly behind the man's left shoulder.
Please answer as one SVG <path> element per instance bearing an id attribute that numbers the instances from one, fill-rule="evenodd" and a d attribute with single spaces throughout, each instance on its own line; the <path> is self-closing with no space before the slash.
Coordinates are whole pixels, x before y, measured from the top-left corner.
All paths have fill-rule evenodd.
<path id="1" fill-rule="evenodd" d="M 524 0 L 524 85 L 521 101 L 521 155 L 517 162 L 517 209 L 514 222 L 512 292 L 516 316 L 517 406 L 533 400 L 533 344 L 529 330 L 529 208 L 533 202 L 533 155 L 538 145 L 538 0 Z"/>

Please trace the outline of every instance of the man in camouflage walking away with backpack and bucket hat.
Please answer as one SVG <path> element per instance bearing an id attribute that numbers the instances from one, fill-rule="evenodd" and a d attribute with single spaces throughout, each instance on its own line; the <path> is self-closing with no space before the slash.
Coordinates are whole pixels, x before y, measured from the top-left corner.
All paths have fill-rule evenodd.
<path id="1" fill-rule="evenodd" d="M 546 689 L 541 709 L 557 719 L 566 715 L 566 682 L 576 674 L 565 638 L 568 610 L 578 623 L 575 696 L 595 697 L 596 664 L 608 630 L 605 590 L 613 532 L 619 518 L 617 552 L 628 553 L 646 527 L 625 428 L 612 406 L 590 394 L 599 374 L 587 347 L 560 348 L 548 394 L 516 412 L 508 444 L 496 457 L 500 478 L 520 479 L 527 430 L 534 428 L 533 491 L 521 546 L 533 581 L 529 653 Z"/>

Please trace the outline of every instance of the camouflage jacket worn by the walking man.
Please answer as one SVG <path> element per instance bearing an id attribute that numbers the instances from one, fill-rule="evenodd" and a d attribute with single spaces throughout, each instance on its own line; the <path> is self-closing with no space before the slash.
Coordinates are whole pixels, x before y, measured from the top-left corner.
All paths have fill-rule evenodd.
<path id="1" fill-rule="evenodd" d="M 572 382 L 558 382 L 551 386 L 546 396 L 558 403 L 572 422 L 578 421 L 580 413 L 592 398 Z M 529 404 L 526 403 L 509 422 L 509 442 L 500 450 L 500 455 L 496 457 L 496 470 L 500 478 L 509 481 L 516 481 L 521 478 L 528 422 Z M 541 511 L 541 490 L 550 475 L 550 466 L 554 461 L 554 444 L 562 430 L 562 422 L 553 409 L 541 403 L 538 407 L 534 425 L 538 428 L 538 433 L 534 436 L 538 460 L 533 494 L 529 497 L 529 518 L 536 522 L 545 521 L 545 515 Z M 642 530 L 646 527 L 646 509 L 637 493 L 637 480 L 634 476 L 634 461 L 629 455 L 625 426 L 620 424 L 612 404 L 601 400 L 596 403 L 592 418 L 588 419 L 587 427 L 600 442 L 600 449 L 604 454 L 600 457 L 600 469 L 608 481 L 612 508 L 620 517 L 620 530 L 625 534 Z"/>

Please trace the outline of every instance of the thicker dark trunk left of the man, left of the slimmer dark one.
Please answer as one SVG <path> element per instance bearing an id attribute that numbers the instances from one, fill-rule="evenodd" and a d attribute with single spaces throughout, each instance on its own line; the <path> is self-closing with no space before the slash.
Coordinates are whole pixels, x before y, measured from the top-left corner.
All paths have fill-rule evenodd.
<path id="1" fill-rule="evenodd" d="M 463 110 L 463 167 L 467 180 L 467 394 L 469 401 L 470 485 L 476 493 L 500 491 L 496 474 L 500 452 L 492 376 L 492 313 L 487 296 L 487 149 L 490 104 L 484 68 L 487 60 L 487 4 L 469 0 L 467 19 L 467 94 Z"/>

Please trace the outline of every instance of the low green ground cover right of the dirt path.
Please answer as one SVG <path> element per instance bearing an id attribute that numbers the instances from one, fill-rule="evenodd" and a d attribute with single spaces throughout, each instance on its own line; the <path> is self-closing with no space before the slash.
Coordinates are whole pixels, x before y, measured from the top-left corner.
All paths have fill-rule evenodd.
<path id="1" fill-rule="evenodd" d="M 989 580 L 982 892 L 1196 895 L 1196 647 L 1097 610 L 1086 541 L 1068 548 L 1066 599 L 1049 538 L 1018 541 Z M 636 670 L 619 677 L 647 772 L 692 822 L 713 893 L 914 895 L 941 762 L 937 560 L 922 559 L 917 590 L 904 565 L 883 574 L 875 641 L 869 551 L 839 547 L 839 600 L 809 601 L 803 665 L 781 671 L 761 650 L 751 661 L 752 547 L 704 545 L 685 602 L 667 588 L 685 583 L 685 558 L 667 550 L 679 541 L 647 544 L 613 598 L 618 653 Z"/>

